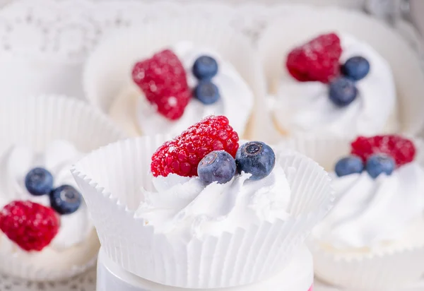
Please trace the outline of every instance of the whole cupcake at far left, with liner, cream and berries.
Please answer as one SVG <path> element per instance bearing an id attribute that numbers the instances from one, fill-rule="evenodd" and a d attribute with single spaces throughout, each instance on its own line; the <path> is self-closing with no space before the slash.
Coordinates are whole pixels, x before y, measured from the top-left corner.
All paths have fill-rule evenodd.
<path id="1" fill-rule="evenodd" d="M 70 168 L 123 133 L 69 97 L 1 100 L 0 116 L 0 270 L 39 281 L 85 271 L 99 242 Z"/>

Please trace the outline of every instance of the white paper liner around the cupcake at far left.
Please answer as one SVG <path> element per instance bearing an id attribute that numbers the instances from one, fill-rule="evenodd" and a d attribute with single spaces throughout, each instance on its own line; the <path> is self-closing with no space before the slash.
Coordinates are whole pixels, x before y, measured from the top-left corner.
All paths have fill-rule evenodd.
<path id="1" fill-rule="evenodd" d="M 13 144 L 25 145 L 37 151 L 44 150 L 49 143 L 58 139 L 73 143 L 84 153 L 123 137 L 124 133 L 102 112 L 71 97 L 10 96 L 0 100 L 0 153 L 4 153 Z M 93 266 L 98 247 L 98 238 L 93 231 L 85 244 L 76 247 L 81 248 L 82 254 L 86 256 L 83 263 L 70 266 L 62 264 L 64 266 L 57 268 L 56 263 L 66 259 L 61 257 L 66 251 L 49 256 L 48 259 L 54 261 L 51 266 L 41 262 L 33 263 L 23 259 L 25 256 L 11 253 L 0 255 L 0 270 L 28 280 L 69 278 Z M 79 251 L 74 251 L 73 254 L 80 254 Z M 44 256 L 42 258 L 47 259 Z"/>

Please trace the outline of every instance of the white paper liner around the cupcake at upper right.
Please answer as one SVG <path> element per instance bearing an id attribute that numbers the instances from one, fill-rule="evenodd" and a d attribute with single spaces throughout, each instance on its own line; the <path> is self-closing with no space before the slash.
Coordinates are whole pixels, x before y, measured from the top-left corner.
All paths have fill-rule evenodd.
<path id="1" fill-rule="evenodd" d="M 296 29 L 283 29 L 292 27 Z M 292 13 L 269 25 L 259 40 L 259 54 L 269 92 L 276 94 L 279 77 L 283 73 L 285 52 L 305 40 L 305 35 L 314 37 L 331 31 L 347 33 L 367 42 L 389 62 L 396 83 L 400 131 L 416 135 L 424 124 L 424 115 L 420 112 L 420 108 L 424 107 L 424 99 L 420 97 L 424 90 L 424 72 L 419 58 L 396 31 L 363 13 L 341 8 L 311 8 Z M 264 129 L 264 138 L 281 136 L 274 129 L 271 114 L 264 107 L 261 110 L 259 114 L 265 118 L 259 120 L 261 125 L 258 127 Z M 392 119 L 396 119 L 396 116 Z M 387 126 L 389 131 L 398 127 L 393 120 L 389 120 Z M 273 130 L 266 131 L 269 127 Z"/>

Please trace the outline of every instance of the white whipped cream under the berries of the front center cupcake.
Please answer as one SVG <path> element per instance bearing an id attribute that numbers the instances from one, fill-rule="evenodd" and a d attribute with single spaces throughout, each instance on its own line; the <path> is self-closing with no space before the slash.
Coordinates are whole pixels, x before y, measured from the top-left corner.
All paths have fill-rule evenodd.
<path id="1" fill-rule="evenodd" d="M 153 177 L 156 191 L 143 190 L 136 216 L 165 234 L 201 237 L 247 229 L 252 224 L 288 218 L 290 186 L 281 165 L 264 179 L 236 175 L 230 182 L 204 186 L 198 177 Z"/>

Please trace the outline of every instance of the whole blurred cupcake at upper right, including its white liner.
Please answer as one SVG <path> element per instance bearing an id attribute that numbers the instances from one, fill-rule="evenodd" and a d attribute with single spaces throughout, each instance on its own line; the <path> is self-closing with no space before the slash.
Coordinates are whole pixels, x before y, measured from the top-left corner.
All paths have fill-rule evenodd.
<path id="1" fill-rule="evenodd" d="M 276 140 L 417 133 L 424 119 L 414 107 L 424 74 L 411 48 L 367 16 L 339 8 L 303 12 L 271 25 L 259 42 L 271 94 L 262 108 L 271 127 L 264 134 Z M 281 30 L 287 25 L 297 29 Z M 408 57 L 399 55 L 403 49 Z"/>

